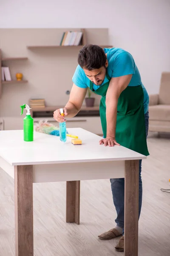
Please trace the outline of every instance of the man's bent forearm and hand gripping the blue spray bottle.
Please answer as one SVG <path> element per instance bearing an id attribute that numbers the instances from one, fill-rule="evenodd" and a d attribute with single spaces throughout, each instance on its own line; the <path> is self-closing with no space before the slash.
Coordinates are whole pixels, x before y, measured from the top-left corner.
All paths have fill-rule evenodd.
<path id="1" fill-rule="evenodd" d="M 73 87 L 70 93 L 70 98 L 68 100 L 68 103 L 65 105 L 65 108 L 63 109 L 65 116 L 74 117 L 77 115 L 77 113 L 80 111 L 82 107 L 82 103 L 83 103 L 83 100 L 85 99 L 86 93 L 87 93 L 87 88 L 81 88 L 73 84 Z M 60 115 L 59 109 L 54 111 L 53 116 L 57 122 L 65 121 L 64 116 Z"/>

